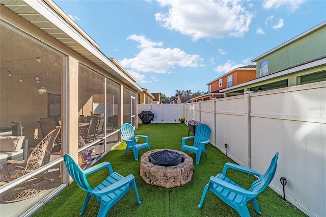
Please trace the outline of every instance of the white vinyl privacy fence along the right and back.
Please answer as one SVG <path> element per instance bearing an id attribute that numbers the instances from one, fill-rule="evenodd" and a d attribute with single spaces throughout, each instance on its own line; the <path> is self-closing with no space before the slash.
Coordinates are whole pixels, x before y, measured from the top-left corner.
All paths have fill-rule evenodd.
<path id="1" fill-rule="evenodd" d="M 213 146 L 260 173 L 279 152 L 269 187 L 283 195 L 285 177 L 286 200 L 309 216 L 326 217 L 326 82 L 181 106 L 139 105 L 138 113 L 152 111 L 153 123 L 179 123 L 179 117 L 205 123 Z"/>

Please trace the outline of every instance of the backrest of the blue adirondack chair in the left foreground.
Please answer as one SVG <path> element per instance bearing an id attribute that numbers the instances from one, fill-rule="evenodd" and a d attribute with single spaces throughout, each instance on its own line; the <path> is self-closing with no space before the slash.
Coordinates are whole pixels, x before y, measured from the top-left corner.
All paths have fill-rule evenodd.
<path id="1" fill-rule="evenodd" d="M 92 192 L 92 188 L 88 184 L 84 171 L 76 164 L 72 157 L 69 154 L 64 154 L 63 160 L 69 175 L 77 185 L 86 192 Z"/>

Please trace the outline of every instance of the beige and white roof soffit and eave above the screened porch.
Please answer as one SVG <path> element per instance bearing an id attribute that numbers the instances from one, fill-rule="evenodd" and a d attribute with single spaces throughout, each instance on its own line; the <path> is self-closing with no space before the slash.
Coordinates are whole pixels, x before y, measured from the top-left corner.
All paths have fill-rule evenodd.
<path id="1" fill-rule="evenodd" d="M 47 4 L 46 4 L 46 3 Z M 29 3 L 29 4 L 28 4 Z M 58 10 L 61 10 L 54 2 L 51 0 L 41 1 L 41 0 L 0 0 L 0 4 L 4 5 L 8 9 L 12 10 L 19 16 L 28 20 L 39 29 L 49 34 L 53 38 L 65 44 L 67 47 L 76 51 L 80 55 L 84 56 L 86 59 L 90 60 L 97 66 L 104 69 L 106 72 L 110 73 L 114 77 L 117 77 L 122 82 L 130 85 L 135 90 L 142 91 L 142 88 L 138 86 L 132 79 L 130 79 L 124 72 L 122 72 L 117 66 L 115 66 L 101 51 L 98 50 L 98 45 L 82 30 L 77 26 L 76 23 L 67 21 L 67 17 L 63 17 Z M 30 5 L 37 5 L 38 8 L 42 9 L 42 13 L 46 15 L 57 16 L 58 23 L 65 22 L 65 25 L 73 31 L 75 35 L 79 36 L 79 40 L 67 34 L 65 31 L 60 29 L 57 24 L 51 22 L 48 18 L 44 17 L 40 12 Z M 46 8 L 46 10 L 44 10 Z M 64 13 L 61 11 L 61 13 Z M 59 20 L 61 19 L 61 20 Z M 77 28 L 75 28 L 75 26 Z M 80 40 L 80 38 L 82 40 Z M 85 45 L 88 46 L 85 47 Z"/>

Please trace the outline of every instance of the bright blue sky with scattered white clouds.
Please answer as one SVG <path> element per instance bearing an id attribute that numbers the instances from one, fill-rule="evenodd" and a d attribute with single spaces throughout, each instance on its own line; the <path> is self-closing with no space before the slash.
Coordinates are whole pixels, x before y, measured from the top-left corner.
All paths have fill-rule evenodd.
<path id="1" fill-rule="evenodd" d="M 326 20 L 326 1 L 54 0 L 140 87 L 170 97 Z"/>

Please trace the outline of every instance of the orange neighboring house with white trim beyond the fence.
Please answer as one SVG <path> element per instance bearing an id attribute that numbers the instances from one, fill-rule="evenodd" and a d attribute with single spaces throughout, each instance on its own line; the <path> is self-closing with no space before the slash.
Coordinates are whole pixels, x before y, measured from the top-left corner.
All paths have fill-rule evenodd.
<path id="1" fill-rule="evenodd" d="M 193 102 L 211 100 L 214 98 L 223 98 L 224 94 L 220 90 L 232 87 L 256 78 L 256 65 L 247 65 L 235 68 L 222 76 L 209 82 L 208 93 L 195 97 Z M 231 94 L 232 95 L 232 94 Z M 237 94 L 233 94 L 237 95 Z"/>

